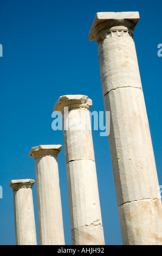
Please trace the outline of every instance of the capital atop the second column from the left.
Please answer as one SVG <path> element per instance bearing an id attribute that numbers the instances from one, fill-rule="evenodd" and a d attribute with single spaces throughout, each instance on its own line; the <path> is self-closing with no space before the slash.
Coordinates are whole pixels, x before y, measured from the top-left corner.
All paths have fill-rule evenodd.
<path id="1" fill-rule="evenodd" d="M 30 150 L 30 157 L 38 157 L 38 156 L 47 156 L 47 155 L 59 155 L 62 149 L 62 145 L 39 145 L 37 147 L 33 147 Z"/>

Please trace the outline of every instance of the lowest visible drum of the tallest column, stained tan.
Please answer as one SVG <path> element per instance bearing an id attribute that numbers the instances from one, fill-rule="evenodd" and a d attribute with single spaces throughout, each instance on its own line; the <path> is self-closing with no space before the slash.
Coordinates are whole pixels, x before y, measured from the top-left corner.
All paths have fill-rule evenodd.
<path id="1" fill-rule="evenodd" d="M 161 200 L 137 200 L 118 211 L 124 245 L 161 245 Z"/>

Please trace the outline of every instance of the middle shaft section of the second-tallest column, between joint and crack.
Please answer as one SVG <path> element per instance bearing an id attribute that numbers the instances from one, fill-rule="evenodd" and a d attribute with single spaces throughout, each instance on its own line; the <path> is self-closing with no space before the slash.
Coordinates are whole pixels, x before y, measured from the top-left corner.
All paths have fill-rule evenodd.
<path id="1" fill-rule="evenodd" d="M 71 228 L 102 225 L 95 162 L 72 161 L 66 167 Z"/>

